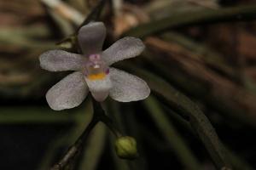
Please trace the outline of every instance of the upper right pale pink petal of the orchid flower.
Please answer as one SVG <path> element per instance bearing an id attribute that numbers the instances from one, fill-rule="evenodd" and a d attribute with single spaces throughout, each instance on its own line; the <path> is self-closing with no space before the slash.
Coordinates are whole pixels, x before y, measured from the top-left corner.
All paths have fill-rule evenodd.
<path id="1" fill-rule="evenodd" d="M 107 65 L 112 65 L 119 60 L 136 57 L 143 52 L 144 48 L 145 46 L 139 38 L 124 37 L 103 51 L 102 59 Z"/>

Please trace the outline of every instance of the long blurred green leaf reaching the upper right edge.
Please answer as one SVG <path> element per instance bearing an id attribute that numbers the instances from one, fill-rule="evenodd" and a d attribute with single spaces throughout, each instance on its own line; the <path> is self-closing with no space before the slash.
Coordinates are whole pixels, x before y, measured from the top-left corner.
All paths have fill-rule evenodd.
<path id="1" fill-rule="evenodd" d="M 256 5 L 219 8 L 216 10 L 202 9 L 193 13 L 170 15 L 161 20 L 131 28 L 125 36 L 146 37 L 166 29 L 223 21 L 242 21 L 256 19 Z"/>

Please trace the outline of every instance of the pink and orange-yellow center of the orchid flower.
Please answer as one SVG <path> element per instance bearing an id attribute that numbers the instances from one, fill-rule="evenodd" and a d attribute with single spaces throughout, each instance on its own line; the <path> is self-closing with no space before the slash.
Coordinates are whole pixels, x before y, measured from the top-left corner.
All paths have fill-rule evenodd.
<path id="1" fill-rule="evenodd" d="M 91 54 L 85 65 L 86 77 L 90 80 L 101 80 L 108 75 L 108 66 L 102 61 L 101 55 Z"/>

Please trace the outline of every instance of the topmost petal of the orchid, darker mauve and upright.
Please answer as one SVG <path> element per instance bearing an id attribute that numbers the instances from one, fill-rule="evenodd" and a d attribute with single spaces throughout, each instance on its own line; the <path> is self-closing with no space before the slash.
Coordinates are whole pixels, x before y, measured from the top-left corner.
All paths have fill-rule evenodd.
<path id="1" fill-rule="evenodd" d="M 102 22 L 90 22 L 79 30 L 79 45 L 83 54 L 97 54 L 102 51 L 106 27 Z"/>

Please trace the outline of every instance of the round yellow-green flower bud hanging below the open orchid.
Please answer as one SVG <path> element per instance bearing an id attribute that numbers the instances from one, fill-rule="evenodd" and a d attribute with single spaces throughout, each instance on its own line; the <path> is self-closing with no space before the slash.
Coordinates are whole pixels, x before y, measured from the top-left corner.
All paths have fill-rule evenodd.
<path id="1" fill-rule="evenodd" d="M 117 155 L 122 159 L 137 158 L 137 142 L 130 136 L 120 137 L 115 141 L 115 150 Z"/>

